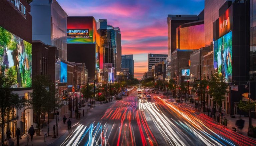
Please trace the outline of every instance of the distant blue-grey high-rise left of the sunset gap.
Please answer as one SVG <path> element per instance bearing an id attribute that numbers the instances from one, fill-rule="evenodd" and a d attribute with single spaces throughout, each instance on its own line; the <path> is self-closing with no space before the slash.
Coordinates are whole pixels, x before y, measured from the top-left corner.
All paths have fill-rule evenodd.
<path id="1" fill-rule="evenodd" d="M 122 55 L 122 68 L 128 68 L 130 76 L 134 76 L 134 60 L 133 55 Z"/>

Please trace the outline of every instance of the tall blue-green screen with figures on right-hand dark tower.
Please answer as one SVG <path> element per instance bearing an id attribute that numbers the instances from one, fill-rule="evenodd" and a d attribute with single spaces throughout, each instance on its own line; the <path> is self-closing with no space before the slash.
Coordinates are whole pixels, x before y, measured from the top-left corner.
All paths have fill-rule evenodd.
<path id="1" fill-rule="evenodd" d="M 232 32 L 213 42 L 214 71 L 223 74 L 226 82 L 232 81 Z"/>

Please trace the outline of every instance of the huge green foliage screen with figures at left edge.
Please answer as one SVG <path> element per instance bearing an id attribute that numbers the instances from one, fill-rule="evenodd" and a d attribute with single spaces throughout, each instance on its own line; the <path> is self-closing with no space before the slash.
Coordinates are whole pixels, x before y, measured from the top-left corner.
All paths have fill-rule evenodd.
<path id="1" fill-rule="evenodd" d="M 0 73 L 17 78 L 14 88 L 31 87 L 32 45 L 0 27 Z"/>

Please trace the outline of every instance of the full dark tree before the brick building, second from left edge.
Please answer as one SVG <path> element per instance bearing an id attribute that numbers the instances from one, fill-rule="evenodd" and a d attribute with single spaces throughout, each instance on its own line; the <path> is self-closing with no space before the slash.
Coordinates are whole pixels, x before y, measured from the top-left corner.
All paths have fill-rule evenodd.
<path id="1" fill-rule="evenodd" d="M 32 98 L 32 109 L 36 114 L 36 121 L 38 126 L 38 134 L 40 135 L 40 119 L 41 114 L 58 109 L 59 97 L 56 95 L 56 89 L 54 82 L 51 81 L 49 76 L 46 75 L 35 75 L 32 80 L 31 93 Z M 58 123 L 58 121 L 56 121 Z"/>

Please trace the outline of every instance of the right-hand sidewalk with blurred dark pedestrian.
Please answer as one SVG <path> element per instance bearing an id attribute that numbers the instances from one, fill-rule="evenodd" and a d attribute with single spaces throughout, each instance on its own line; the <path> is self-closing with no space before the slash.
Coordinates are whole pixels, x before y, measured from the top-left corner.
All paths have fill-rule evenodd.
<path id="1" fill-rule="evenodd" d="M 189 103 L 188 101 L 187 102 L 183 102 L 183 103 L 185 103 L 185 104 L 195 108 L 195 103 Z M 203 112 L 203 108 L 201 108 L 200 112 L 204 113 L 205 115 L 208 115 L 207 111 Z M 219 112 L 215 113 L 215 115 L 218 115 L 218 114 L 219 114 Z M 214 117 L 214 115 L 212 115 L 212 119 L 214 120 L 213 117 Z M 244 122 L 244 128 L 242 130 L 238 130 L 237 129 L 236 132 L 241 134 L 241 135 L 243 135 L 243 136 L 245 136 L 245 137 L 248 137 L 248 138 L 256 140 L 256 138 L 253 138 L 253 137 L 250 137 L 250 136 L 247 135 L 248 127 L 249 127 L 249 117 L 244 117 L 242 115 L 241 115 L 241 117 L 240 117 L 240 115 L 235 115 L 235 118 L 231 118 L 230 115 L 226 115 L 226 116 L 223 116 L 223 117 L 227 118 L 227 126 L 226 127 L 228 129 L 232 130 L 232 131 L 234 130 L 232 127 L 236 127 L 237 128 L 237 126 L 235 125 L 236 121 L 239 120 L 239 119 L 243 119 L 245 121 Z M 217 118 L 216 118 L 215 121 L 217 121 Z M 252 125 L 256 126 L 256 119 L 252 119 Z"/>

